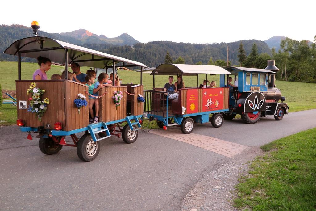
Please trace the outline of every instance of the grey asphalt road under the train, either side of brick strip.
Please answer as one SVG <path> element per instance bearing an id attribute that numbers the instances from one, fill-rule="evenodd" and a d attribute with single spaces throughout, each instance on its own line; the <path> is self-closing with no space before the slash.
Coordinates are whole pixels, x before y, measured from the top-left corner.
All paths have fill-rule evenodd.
<path id="1" fill-rule="evenodd" d="M 193 133 L 246 146 L 316 127 L 316 109 L 294 112 L 282 121 L 257 124 L 225 121 L 220 128 L 196 125 Z M 98 158 L 82 162 L 73 147 L 44 155 L 37 141 L 17 126 L 0 127 L 1 210 L 179 210 L 197 181 L 231 158 L 152 133 L 133 144 L 111 137 Z M 23 137 L 23 138 L 22 138 Z"/>

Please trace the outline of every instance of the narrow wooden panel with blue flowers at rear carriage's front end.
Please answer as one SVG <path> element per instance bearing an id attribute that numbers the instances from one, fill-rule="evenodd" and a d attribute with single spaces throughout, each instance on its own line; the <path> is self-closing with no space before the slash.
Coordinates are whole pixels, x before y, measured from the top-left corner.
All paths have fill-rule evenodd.
<path id="1" fill-rule="evenodd" d="M 132 93 L 135 93 L 135 95 L 131 95 L 131 115 L 143 115 L 144 103 L 143 102 L 138 103 L 137 97 L 138 95 L 144 96 L 144 86 L 140 84 L 132 86 L 131 94 Z"/>

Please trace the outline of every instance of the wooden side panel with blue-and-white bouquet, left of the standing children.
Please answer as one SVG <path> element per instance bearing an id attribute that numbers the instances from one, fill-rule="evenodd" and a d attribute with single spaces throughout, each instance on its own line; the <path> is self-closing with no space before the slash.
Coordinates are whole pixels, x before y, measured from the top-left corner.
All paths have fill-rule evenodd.
<path id="1" fill-rule="evenodd" d="M 89 124 L 89 107 L 83 106 L 80 108 L 80 114 L 78 108 L 76 107 L 74 100 L 77 99 L 77 95 L 79 93 L 86 96 L 88 101 L 88 95 L 86 91 L 88 91 L 88 87 L 74 82 L 67 80 L 65 81 L 66 87 L 66 127 L 64 130 L 76 130 L 82 127 L 87 127 Z"/>

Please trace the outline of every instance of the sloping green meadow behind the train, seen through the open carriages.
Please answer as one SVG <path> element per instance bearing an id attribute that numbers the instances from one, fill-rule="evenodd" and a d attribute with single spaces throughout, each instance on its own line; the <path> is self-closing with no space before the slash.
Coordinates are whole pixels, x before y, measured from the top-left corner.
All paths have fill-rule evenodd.
<path id="1" fill-rule="evenodd" d="M 21 64 L 21 78 L 22 80 L 32 79 L 33 72 L 38 69 L 39 66 L 36 63 Z M 89 67 L 81 67 L 82 72 L 86 72 Z M 50 78 L 52 74 L 61 74 L 64 71 L 63 66 L 52 65 L 52 68 L 47 72 L 47 77 Z M 120 78 L 124 84 L 133 82 L 133 84 L 140 83 L 140 73 L 134 71 L 118 71 Z M 18 78 L 17 62 L 0 62 L 0 83 L 3 90 L 15 90 L 15 80 Z M 199 77 L 197 83 L 196 76 L 184 76 L 183 80 L 186 86 L 197 86 L 202 84 L 205 76 Z M 174 76 L 176 80 L 176 77 Z M 216 81 L 219 85 L 219 75 L 208 76 L 209 81 Z M 168 76 L 156 76 L 155 87 L 163 87 L 168 82 Z M 174 83 L 175 81 L 173 81 Z M 148 73 L 143 73 L 144 89 L 151 90 L 153 88 L 153 77 Z M 276 86 L 281 89 L 282 96 L 286 97 L 286 101 L 290 107 L 289 112 L 301 111 L 307 109 L 316 108 L 316 84 L 298 83 L 298 82 L 286 82 L 276 81 Z M 7 110 L 9 109 L 9 110 Z M 7 121 L 7 115 L 13 114 L 7 106 L 2 106 L 0 113 L 0 121 Z M 15 115 L 15 114 L 13 114 Z M 16 115 L 15 115 L 16 116 Z M 8 121 L 10 122 L 10 121 Z M 0 123 L 1 125 L 1 123 Z"/>

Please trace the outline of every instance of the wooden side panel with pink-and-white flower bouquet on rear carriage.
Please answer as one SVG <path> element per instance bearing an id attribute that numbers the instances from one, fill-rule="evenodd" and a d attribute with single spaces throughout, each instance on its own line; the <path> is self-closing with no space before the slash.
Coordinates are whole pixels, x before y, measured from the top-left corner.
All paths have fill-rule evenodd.
<path id="1" fill-rule="evenodd" d="M 117 108 L 112 98 L 112 96 L 114 96 L 114 90 L 120 90 L 121 92 L 123 92 L 121 104 Z M 126 86 L 113 86 L 102 88 L 99 90 L 99 96 L 103 95 L 106 91 L 107 93 L 103 97 L 99 98 L 99 121 L 109 122 L 125 118 Z"/>

